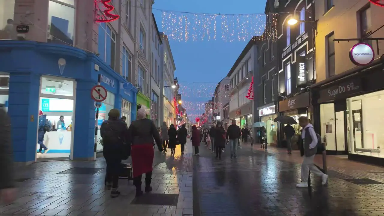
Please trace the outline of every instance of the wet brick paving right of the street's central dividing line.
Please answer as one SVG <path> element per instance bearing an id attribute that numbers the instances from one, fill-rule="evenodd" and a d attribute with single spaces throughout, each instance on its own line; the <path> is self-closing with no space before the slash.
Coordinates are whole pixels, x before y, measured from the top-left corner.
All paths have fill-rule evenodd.
<path id="1" fill-rule="evenodd" d="M 311 175 L 311 188 L 300 182 L 300 153 L 242 144 L 238 158 L 223 160 L 206 147 L 194 156 L 195 216 L 360 216 L 384 215 L 384 168 L 327 156 L 328 185 Z M 316 156 L 316 164 L 322 164 Z"/>

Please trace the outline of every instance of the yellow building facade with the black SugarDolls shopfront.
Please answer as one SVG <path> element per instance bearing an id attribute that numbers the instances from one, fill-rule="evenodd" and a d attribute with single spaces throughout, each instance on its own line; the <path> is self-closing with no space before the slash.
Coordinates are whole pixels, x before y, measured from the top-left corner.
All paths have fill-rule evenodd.
<path id="1" fill-rule="evenodd" d="M 315 128 L 327 154 L 379 165 L 384 41 L 372 38 L 384 34 L 382 11 L 366 0 L 316 2 L 317 83 L 311 86 Z"/>

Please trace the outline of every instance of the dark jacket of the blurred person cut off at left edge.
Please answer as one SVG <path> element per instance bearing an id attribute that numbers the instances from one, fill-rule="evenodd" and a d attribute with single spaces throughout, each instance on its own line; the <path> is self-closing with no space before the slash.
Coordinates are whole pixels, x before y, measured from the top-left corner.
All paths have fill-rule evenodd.
<path id="1" fill-rule="evenodd" d="M 0 189 L 13 188 L 13 148 L 11 140 L 11 121 L 7 112 L 0 109 Z"/>

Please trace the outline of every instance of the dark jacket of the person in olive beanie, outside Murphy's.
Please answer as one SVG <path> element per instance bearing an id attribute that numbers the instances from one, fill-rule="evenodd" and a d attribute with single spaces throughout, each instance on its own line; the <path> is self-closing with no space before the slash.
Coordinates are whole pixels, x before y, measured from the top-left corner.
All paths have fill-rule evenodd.
<path id="1" fill-rule="evenodd" d="M 100 135 L 102 138 L 104 138 L 106 130 L 109 130 L 109 126 L 107 125 L 112 128 L 112 130 L 115 132 L 114 134 L 116 134 L 116 136 L 118 136 L 121 140 L 121 143 L 103 143 L 103 153 L 122 153 L 121 156 L 123 159 L 130 156 L 131 146 L 129 142 L 127 124 L 121 121 L 120 119 L 104 121 L 100 127 Z"/>

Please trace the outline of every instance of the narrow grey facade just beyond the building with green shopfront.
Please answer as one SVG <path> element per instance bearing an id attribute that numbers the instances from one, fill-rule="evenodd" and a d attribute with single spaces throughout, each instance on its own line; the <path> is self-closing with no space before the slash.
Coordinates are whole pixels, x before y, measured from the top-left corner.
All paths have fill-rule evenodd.
<path id="1" fill-rule="evenodd" d="M 153 13 L 151 28 L 151 119 L 157 127 L 160 127 L 163 122 L 163 118 L 161 118 L 163 105 L 160 103 L 160 95 L 162 95 L 163 53 L 161 52 L 161 35 Z"/>

